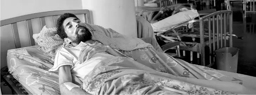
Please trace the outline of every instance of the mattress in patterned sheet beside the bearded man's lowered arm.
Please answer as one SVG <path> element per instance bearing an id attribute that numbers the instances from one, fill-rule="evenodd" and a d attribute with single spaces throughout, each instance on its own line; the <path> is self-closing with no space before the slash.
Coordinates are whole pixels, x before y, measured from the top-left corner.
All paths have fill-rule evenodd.
<path id="1" fill-rule="evenodd" d="M 36 45 L 8 50 L 8 70 L 32 94 L 60 94 L 58 74 L 48 71 L 53 67 L 54 60 L 38 48 Z M 82 85 L 82 81 L 74 75 L 72 80 Z"/>

